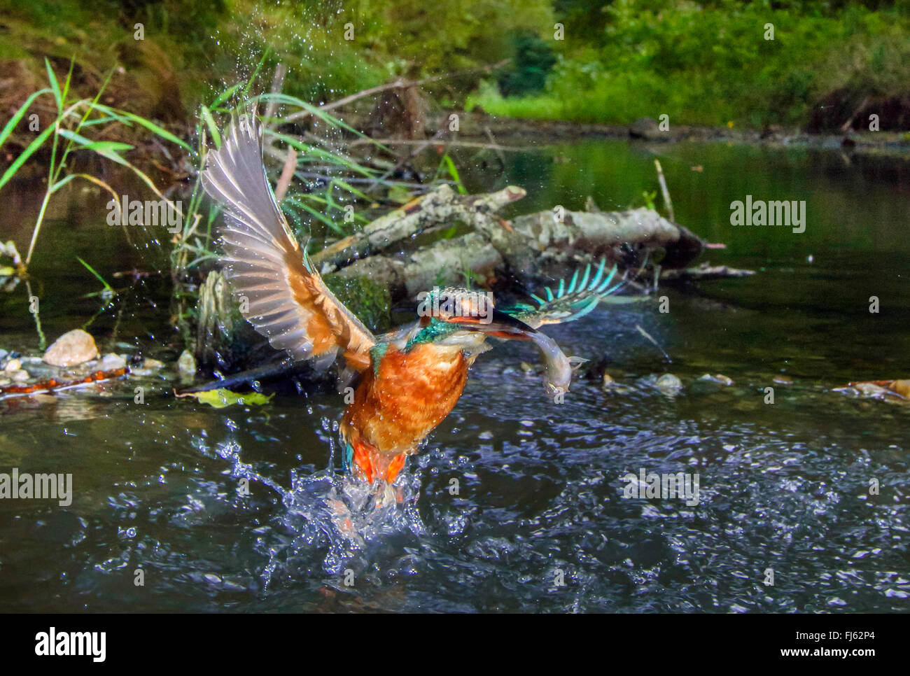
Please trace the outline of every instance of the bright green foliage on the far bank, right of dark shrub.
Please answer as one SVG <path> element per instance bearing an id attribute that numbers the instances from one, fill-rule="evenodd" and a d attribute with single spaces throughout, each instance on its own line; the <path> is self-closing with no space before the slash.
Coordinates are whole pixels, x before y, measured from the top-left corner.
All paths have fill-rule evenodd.
<path id="1" fill-rule="evenodd" d="M 558 3 L 557 11 L 571 15 L 581 6 Z M 602 9 L 602 34 L 572 41 L 569 33 L 544 92 L 511 98 L 486 86 L 470 105 L 577 122 L 667 114 L 672 125 L 799 125 L 834 91 L 857 102 L 910 91 L 910 3 L 903 0 L 613 0 Z M 773 40 L 765 39 L 767 24 Z"/>

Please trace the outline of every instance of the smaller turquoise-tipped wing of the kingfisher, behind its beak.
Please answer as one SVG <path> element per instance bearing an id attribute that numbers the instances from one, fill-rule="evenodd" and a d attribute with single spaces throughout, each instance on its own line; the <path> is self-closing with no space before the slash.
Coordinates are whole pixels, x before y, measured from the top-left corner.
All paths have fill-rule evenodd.
<path id="1" fill-rule="evenodd" d="M 544 324 L 561 324 L 584 317 L 596 308 L 598 303 L 622 288 L 625 283 L 625 279 L 621 278 L 611 286 L 613 278 L 616 277 L 616 266 L 613 266 L 604 277 L 605 266 L 606 259 L 602 259 L 597 272 L 591 277 L 591 265 L 589 264 L 588 267 L 585 267 L 581 280 L 578 277 L 579 270 L 575 270 L 568 285 L 565 279 L 561 279 L 560 286 L 555 292 L 549 287 L 544 288 L 543 293 L 546 298 L 531 294 L 536 305 L 515 305 L 511 308 L 503 308 L 503 312 L 508 312 L 512 317 L 521 319 L 533 328 L 541 327 Z"/>

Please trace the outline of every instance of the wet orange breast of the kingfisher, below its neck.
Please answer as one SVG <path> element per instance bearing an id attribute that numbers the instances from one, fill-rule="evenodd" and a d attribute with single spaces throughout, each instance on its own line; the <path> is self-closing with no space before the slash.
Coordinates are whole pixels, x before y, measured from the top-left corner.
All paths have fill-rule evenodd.
<path id="1" fill-rule="evenodd" d="M 348 439 L 363 439 L 383 459 L 412 452 L 449 415 L 468 379 L 460 350 L 420 345 L 389 347 L 374 375 L 369 368 L 345 411 Z"/>

